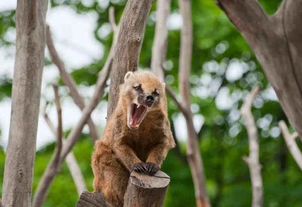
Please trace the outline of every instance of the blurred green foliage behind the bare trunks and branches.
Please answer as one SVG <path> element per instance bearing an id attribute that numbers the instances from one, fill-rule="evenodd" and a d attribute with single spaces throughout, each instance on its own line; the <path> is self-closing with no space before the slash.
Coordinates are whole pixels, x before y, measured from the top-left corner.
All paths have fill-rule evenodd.
<path id="1" fill-rule="evenodd" d="M 58 2 L 51 1 L 52 7 L 59 7 Z M 280 0 L 259 1 L 269 14 L 273 14 Z M 119 20 L 125 1 L 111 1 L 114 6 L 116 19 Z M 94 85 L 97 74 L 102 70 L 109 53 L 112 34 L 101 39 L 97 31 L 104 23 L 108 23 L 108 8 L 103 9 L 97 3 L 87 8 L 81 1 L 63 1 L 63 5 L 72 7 L 78 13 L 96 11 L 98 21 L 94 35 L 105 48 L 104 58 L 95 60 L 82 68 L 73 68 L 71 73 L 78 85 Z M 239 108 L 243 96 L 255 84 L 265 91 L 268 81 L 263 74 L 260 64 L 242 35 L 229 21 L 224 13 L 214 4 L 214 1 L 192 0 L 193 21 L 193 56 L 191 72 L 191 101 L 194 103 L 194 114 L 204 117 L 204 125 L 199 134 L 200 152 L 203 158 L 207 190 L 213 207 L 217 206 L 250 206 L 251 182 L 248 166 L 242 161 L 242 156 L 248 155 L 248 137 L 243 120 L 239 117 Z M 151 48 L 153 45 L 155 22 L 154 12 L 156 2 L 153 4 L 150 17 L 145 30 L 139 67 L 148 69 L 151 61 Z M 171 13 L 177 14 L 178 3 L 172 1 Z M 0 13 L 0 44 L 10 45 L 5 40 L 8 28 L 15 27 L 15 11 Z M 168 54 L 165 65 L 167 82 L 174 92 L 178 93 L 178 61 L 179 61 L 180 30 L 169 31 Z M 238 60 L 244 63 L 248 70 L 235 81 L 226 79 L 225 70 L 228 65 Z M 45 64 L 50 64 L 45 59 Z M 221 109 L 216 104 L 217 90 L 209 92 L 209 85 L 201 80 L 207 77 L 210 83 L 218 81 L 219 88 L 225 87 L 234 103 L 229 108 Z M 169 78 L 169 79 L 168 79 Z M 60 84 L 62 82 L 60 81 Z M 0 101 L 11 96 L 12 80 L 0 77 Z M 207 91 L 207 94 L 200 93 Z M 261 98 L 262 97 L 262 98 Z M 288 122 L 280 105 L 276 101 L 266 99 L 264 94 L 255 101 L 252 110 L 257 121 L 260 138 L 260 163 L 264 183 L 264 206 L 301 206 L 300 193 L 302 190 L 302 177 L 295 161 L 288 153 L 286 145 L 276 130 L 277 121 L 284 119 Z M 104 99 L 107 97 L 105 96 Z M 169 98 L 169 118 L 179 113 L 173 101 Z M 192 107 L 193 108 L 193 107 Z M 172 128 L 174 130 L 174 128 Z M 68 132 L 65 132 L 68 133 Z M 301 143 L 298 142 L 299 147 Z M 171 150 L 162 170 L 171 177 L 165 206 L 195 206 L 194 186 L 188 164 L 184 161 L 185 142 L 178 142 L 178 148 Z M 54 144 L 46 146 L 37 152 L 33 191 L 49 162 Z M 177 151 L 177 149 L 179 151 Z M 93 144 L 88 134 L 83 134 L 80 141 L 73 148 L 85 181 L 92 191 L 93 173 L 91 169 L 91 153 Z M 0 153 L 0 185 L 3 183 L 5 155 Z M 2 187 L 0 186 L 0 190 Z M 56 176 L 44 206 L 74 206 L 79 196 L 68 171 L 66 164 Z"/>

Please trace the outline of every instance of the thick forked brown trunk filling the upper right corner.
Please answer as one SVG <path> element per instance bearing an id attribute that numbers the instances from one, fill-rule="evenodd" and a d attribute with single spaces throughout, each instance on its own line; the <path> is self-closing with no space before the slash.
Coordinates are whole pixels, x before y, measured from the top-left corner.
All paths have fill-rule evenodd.
<path id="1" fill-rule="evenodd" d="M 301 1 L 284 0 L 267 15 L 256 0 L 216 0 L 242 33 L 276 92 L 286 116 L 302 134 Z"/>

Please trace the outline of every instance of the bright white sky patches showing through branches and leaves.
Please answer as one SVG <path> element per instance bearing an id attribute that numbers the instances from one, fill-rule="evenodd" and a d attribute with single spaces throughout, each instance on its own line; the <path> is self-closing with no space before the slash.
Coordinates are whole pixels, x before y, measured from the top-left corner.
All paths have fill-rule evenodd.
<path id="1" fill-rule="evenodd" d="M 89 5 L 93 1 L 84 1 L 85 4 Z M 99 0 L 102 7 L 108 6 L 109 0 Z M 1 0 L 0 1 L 0 12 L 10 9 L 15 9 L 17 5 L 16 0 Z M 77 14 L 75 11 L 67 6 L 60 6 L 53 9 L 48 8 L 46 22 L 50 25 L 54 45 L 65 63 L 67 71 L 71 72 L 72 68 L 80 68 L 82 66 L 90 64 L 93 59 L 98 59 L 103 56 L 103 46 L 94 37 L 94 29 L 96 27 L 97 14 L 90 12 L 88 14 Z M 179 13 L 173 13 L 168 19 L 169 29 L 179 29 L 182 26 L 182 19 Z M 99 31 L 100 36 L 106 36 L 111 31 L 111 28 L 104 25 Z M 10 29 L 6 34 L 7 40 L 15 41 L 16 30 Z M 76 47 L 76 48 L 75 48 Z M 226 43 L 219 43 L 216 47 L 217 53 L 223 53 L 225 49 L 229 47 Z M 46 48 L 45 55 L 49 57 L 48 50 Z M 14 70 L 14 56 L 15 47 L 2 47 L 0 48 L 0 77 L 4 75 L 12 78 Z M 226 68 L 226 78 L 229 81 L 235 81 L 240 79 L 244 73 L 247 72 L 246 65 L 234 61 L 228 68 Z M 207 63 L 206 67 L 209 71 L 219 70 L 219 67 L 215 62 Z M 47 100 L 53 100 L 53 89 L 51 86 L 47 86 L 49 83 L 55 83 L 59 76 L 59 72 L 55 65 L 45 66 L 42 77 L 42 96 Z M 174 81 L 173 77 L 170 80 Z M 207 97 L 209 95 L 217 95 L 216 105 L 218 108 L 227 109 L 234 103 L 229 90 L 226 88 L 217 91 L 220 80 L 212 80 L 211 76 L 204 75 L 200 78 L 200 82 L 203 84 L 202 87 L 198 88 L 196 94 L 199 97 Z M 208 87 L 209 88 L 206 88 Z M 81 87 L 81 94 L 85 94 L 86 97 L 92 97 L 94 87 Z M 61 94 L 66 94 L 64 89 L 60 90 Z M 193 92 L 192 92 L 193 93 Z M 193 94 L 194 95 L 194 94 Z M 266 91 L 266 97 L 269 99 L 276 99 L 276 96 L 271 91 Z M 44 99 L 41 100 L 41 106 L 44 106 Z M 80 119 L 81 111 L 76 106 L 71 98 L 64 98 L 61 100 L 62 107 L 62 121 L 63 129 L 72 128 Z M 197 107 L 197 109 L 196 109 Z M 196 109 L 199 111 L 198 105 L 192 105 L 192 110 Z M 38 109 L 37 109 L 38 110 Z M 99 106 L 92 113 L 92 118 L 99 127 L 104 126 L 106 123 L 107 103 L 101 102 Z M 201 112 L 202 113 L 202 112 Z M 0 102 L 0 128 L 2 134 L 0 137 L 0 145 L 6 148 L 9 137 L 10 127 L 10 115 L 11 115 L 11 99 L 6 98 Z M 50 108 L 48 115 L 53 123 L 57 124 L 56 109 L 55 107 Z M 182 114 L 175 115 L 175 129 L 177 138 L 185 141 L 187 139 L 185 119 Z M 204 122 L 202 115 L 194 115 L 194 127 L 198 131 Z M 84 127 L 84 131 L 88 132 L 87 125 Z M 39 116 L 38 134 L 37 134 L 37 150 L 43 147 L 45 144 L 54 141 L 54 135 L 50 131 L 48 125 L 44 121 L 44 118 Z"/>

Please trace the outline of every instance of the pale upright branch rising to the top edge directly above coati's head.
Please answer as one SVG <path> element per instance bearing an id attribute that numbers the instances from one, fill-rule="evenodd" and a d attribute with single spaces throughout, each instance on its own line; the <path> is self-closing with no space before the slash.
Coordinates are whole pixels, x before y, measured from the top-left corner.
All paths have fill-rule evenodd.
<path id="1" fill-rule="evenodd" d="M 167 19 L 171 9 L 171 0 L 158 0 L 156 12 L 155 37 L 152 47 L 152 72 L 162 81 L 165 80 L 163 67 L 167 56 L 168 28 Z"/>

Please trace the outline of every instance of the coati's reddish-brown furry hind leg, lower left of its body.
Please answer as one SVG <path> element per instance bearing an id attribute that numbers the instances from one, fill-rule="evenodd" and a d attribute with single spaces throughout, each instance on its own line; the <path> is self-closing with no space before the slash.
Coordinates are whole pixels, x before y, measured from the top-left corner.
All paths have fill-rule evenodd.
<path id="1" fill-rule="evenodd" d="M 101 191 L 112 206 L 123 206 L 130 173 L 115 153 L 101 142 L 93 153 L 92 168 L 94 192 Z"/>

